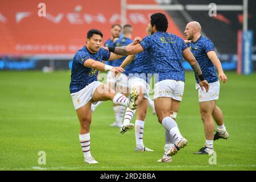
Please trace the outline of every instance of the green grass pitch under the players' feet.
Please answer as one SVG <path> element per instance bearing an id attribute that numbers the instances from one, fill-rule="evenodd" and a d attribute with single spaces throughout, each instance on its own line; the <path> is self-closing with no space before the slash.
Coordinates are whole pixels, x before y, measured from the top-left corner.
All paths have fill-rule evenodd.
<path id="1" fill-rule="evenodd" d="M 188 146 L 172 163 L 163 155 L 164 129 L 148 110 L 144 144 L 154 152 L 135 152 L 134 131 L 125 135 L 109 127 L 112 104 L 104 102 L 92 117 L 91 153 L 98 164 L 85 164 L 79 143 L 79 122 L 69 96 L 70 72 L 0 72 L 0 170 L 255 170 L 256 75 L 227 72 L 217 105 L 224 113 L 228 140 L 214 142 L 217 164 L 208 155 L 193 155 L 204 144 L 195 80 L 187 72 L 177 123 Z M 133 119 L 134 122 L 134 119 Z M 46 165 L 38 152 L 46 152 Z"/>

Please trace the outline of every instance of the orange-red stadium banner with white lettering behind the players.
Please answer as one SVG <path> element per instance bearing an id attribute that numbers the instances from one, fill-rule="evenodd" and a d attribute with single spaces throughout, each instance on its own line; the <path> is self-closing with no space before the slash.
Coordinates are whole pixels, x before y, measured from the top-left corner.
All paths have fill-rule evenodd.
<path id="1" fill-rule="evenodd" d="M 42 1 L 0 2 L 0 55 L 72 54 L 85 44 L 86 32 L 97 28 L 110 36 L 110 27 L 121 22 L 121 1 L 45 0 L 46 16 L 38 15 Z M 150 3 L 154 0 L 127 3 Z M 134 27 L 133 36 L 146 36 L 150 15 L 158 10 L 127 10 L 127 23 Z M 165 11 L 160 11 L 167 13 Z M 168 16 L 168 31 L 184 38 Z"/>

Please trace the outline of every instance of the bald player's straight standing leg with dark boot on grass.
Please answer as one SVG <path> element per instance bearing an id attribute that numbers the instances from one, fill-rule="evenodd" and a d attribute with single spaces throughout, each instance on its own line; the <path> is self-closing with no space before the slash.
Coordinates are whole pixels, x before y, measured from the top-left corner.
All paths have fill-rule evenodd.
<path id="1" fill-rule="evenodd" d="M 215 104 L 215 100 L 199 102 L 200 114 L 204 123 L 205 144 L 204 147 L 200 148 L 199 151 L 194 154 L 209 154 L 213 151 L 214 123 L 212 119 L 212 112 Z"/>

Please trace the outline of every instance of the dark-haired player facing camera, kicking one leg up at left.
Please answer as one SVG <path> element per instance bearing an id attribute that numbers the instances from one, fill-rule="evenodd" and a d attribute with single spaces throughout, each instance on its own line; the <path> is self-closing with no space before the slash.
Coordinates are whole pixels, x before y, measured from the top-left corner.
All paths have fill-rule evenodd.
<path id="1" fill-rule="evenodd" d="M 105 65 L 102 60 L 115 60 L 122 56 L 101 48 L 102 32 L 96 29 L 87 33 L 86 46 L 76 52 L 73 57 L 71 82 L 69 90 L 80 122 L 79 139 L 84 153 L 85 163 L 98 163 L 90 154 L 90 123 L 92 119 L 91 103 L 112 100 L 116 105 L 136 109 L 138 93 L 131 90 L 129 98 L 121 93 L 115 93 L 109 86 L 97 81 L 98 71 L 122 73 L 123 68 Z M 133 44 L 136 44 L 134 39 Z M 132 44 L 131 44 L 132 45 Z"/>

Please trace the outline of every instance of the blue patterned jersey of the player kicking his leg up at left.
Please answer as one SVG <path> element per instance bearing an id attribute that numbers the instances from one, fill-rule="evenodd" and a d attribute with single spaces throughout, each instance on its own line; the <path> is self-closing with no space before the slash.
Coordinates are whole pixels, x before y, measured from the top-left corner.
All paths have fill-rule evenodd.
<path id="1" fill-rule="evenodd" d="M 69 85 L 70 93 L 79 92 L 85 86 L 93 81 L 97 81 L 98 71 L 93 68 L 84 66 L 84 62 L 88 59 L 93 59 L 102 62 L 102 60 L 109 60 L 110 52 L 104 48 L 100 48 L 96 53 L 91 53 L 86 46 L 76 52 L 73 57 L 73 64 L 71 69 L 71 82 Z"/>

